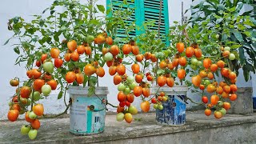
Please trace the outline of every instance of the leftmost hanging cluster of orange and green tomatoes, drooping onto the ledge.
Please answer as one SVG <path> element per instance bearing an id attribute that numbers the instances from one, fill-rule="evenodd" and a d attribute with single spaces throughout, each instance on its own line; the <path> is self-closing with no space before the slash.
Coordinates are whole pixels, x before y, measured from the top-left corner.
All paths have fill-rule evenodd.
<path id="1" fill-rule="evenodd" d="M 28 134 L 30 139 L 37 137 L 37 130 L 40 128 L 39 118 L 43 116 L 44 112 L 43 105 L 39 101 L 48 97 L 51 90 L 56 90 L 58 86 L 53 72 L 54 67 L 57 69 L 63 63 L 59 58 L 59 53 L 58 48 L 52 48 L 50 54 L 42 54 L 35 64 L 38 68 L 26 71 L 28 80 L 23 82 L 22 86 L 18 78 L 10 80 L 10 85 L 18 86 L 18 88 L 9 102 L 10 111 L 7 118 L 14 122 L 18 119 L 19 114 L 25 114 L 26 122 L 30 124 L 22 126 L 21 133 Z"/>

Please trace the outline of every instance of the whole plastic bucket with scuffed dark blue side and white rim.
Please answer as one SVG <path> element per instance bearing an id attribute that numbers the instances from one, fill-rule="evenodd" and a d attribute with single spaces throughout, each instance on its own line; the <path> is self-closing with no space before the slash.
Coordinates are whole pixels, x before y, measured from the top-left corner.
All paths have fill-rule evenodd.
<path id="1" fill-rule="evenodd" d="M 186 97 L 187 86 L 162 87 L 158 92 L 165 92 L 168 101 L 162 102 L 163 109 L 156 110 L 158 124 L 183 125 L 186 122 Z"/>

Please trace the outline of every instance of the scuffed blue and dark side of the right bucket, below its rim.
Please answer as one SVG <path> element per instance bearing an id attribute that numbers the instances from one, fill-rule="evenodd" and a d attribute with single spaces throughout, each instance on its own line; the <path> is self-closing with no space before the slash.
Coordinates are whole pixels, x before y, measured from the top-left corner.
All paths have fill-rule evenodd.
<path id="1" fill-rule="evenodd" d="M 162 110 L 156 110 L 156 121 L 160 124 L 182 125 L 186 122 L 185 95 L 169 95 L 167 102 L 162 102 Z"/>

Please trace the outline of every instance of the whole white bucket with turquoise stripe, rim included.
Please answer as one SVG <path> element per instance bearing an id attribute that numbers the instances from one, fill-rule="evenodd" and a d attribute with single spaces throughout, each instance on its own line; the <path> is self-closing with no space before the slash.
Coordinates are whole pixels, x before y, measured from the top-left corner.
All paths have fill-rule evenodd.
<path id="1" fill-rule="evenodd" d="M 96 87 L 95 94 L 87 96 L 89 87 L 70 86 L 70 133 L 98 134 L 105 129 L 107 87 Z"/>

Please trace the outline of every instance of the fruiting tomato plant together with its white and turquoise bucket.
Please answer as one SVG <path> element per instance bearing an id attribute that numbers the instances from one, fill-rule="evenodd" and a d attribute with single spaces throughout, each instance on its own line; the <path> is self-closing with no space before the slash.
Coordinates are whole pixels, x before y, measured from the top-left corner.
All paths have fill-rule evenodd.
<path id="1" fill-rule="evenodd" d="M 59 6 L 65 10 L 58 12 Z M 22 134 L 36 138 L 39 118 L 49 118 L 41 99 L 46 99 L 57 86 L 58 99 L 63 98 L 66 105 L 62 114 L 70 108 L 71 133 L 97 134 L 104 130 L 108 89 L 99 86 L 98 79 L 105 75 L 105 63 L 114 58 L 105 53 L 105 46 L 113 45 L 105 30 L 113 31 L 115 24 L 99 15 L 105 12 L 104 6 L 94 7 L 93 1 L 81 4 L 65 0 L 54 1 L 31 22 L 20 17 L 10 19 L 8 28 L 14 31 L 12 38 L 18 39 L 14 44 L 14 51 L 19 54 L 16 64 L 26 62 L 29 77 L 23 86 L 18 85 L 18 78 L 10 81 L 18 89 L 11 98 L 8 118 L 13 122 L 18 113 L 26 113 L 26 121 L 30 122 L 22 126 Z M 118 18 L 122 22 L 121 16 Z M 68 100 L 66 91 L 70 93 Z"/>

